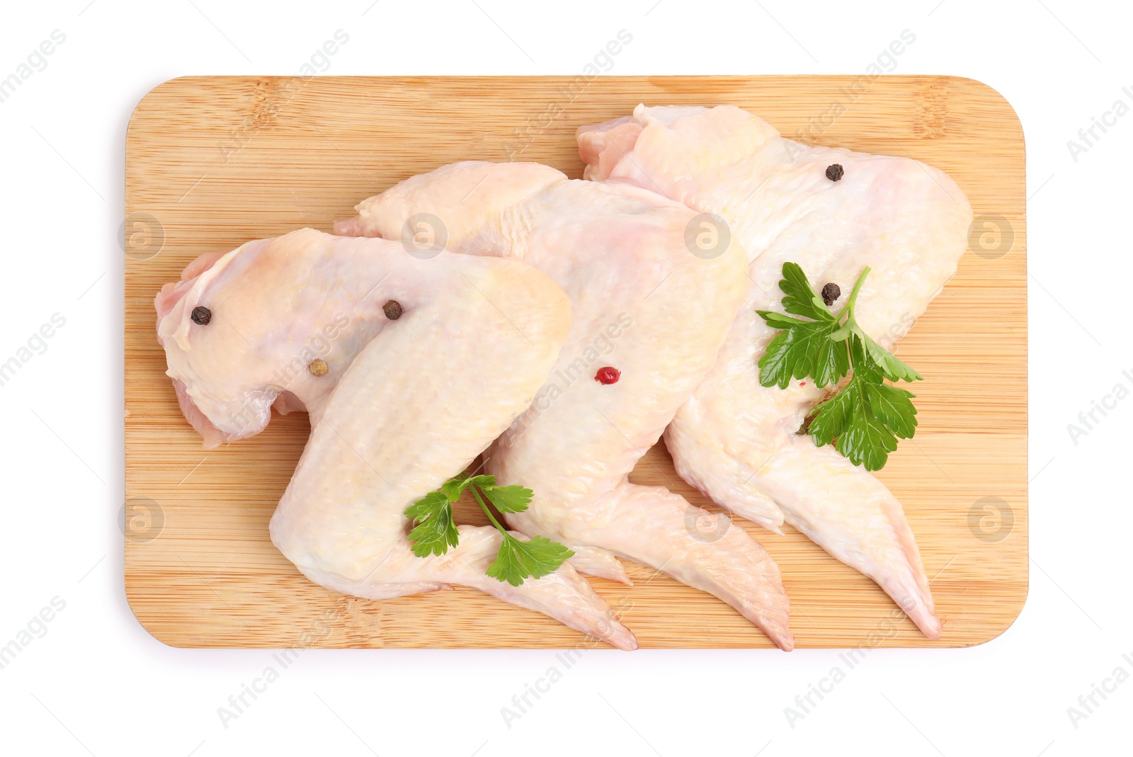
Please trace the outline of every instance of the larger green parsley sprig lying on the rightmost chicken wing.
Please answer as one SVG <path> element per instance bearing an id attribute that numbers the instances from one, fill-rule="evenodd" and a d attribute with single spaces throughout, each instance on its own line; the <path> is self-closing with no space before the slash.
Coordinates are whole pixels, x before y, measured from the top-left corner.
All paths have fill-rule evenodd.
<path id="1" fill-rule="evenodd" d="M 802 318 L 757 311 L 767 325 L 782 329 L 759 358 L 759 383 L 786 389 L 792 378 L 809 376 L 821 388 L 852 372 L 841 391 L 815 408 L 809 433 L 819 446 L 834 442 L 834 449 L 854 465 L 879 470 L 897 449 L 897 439 L 911 439 L 917 429 L 915 394 L 884 380 L 911 382 L 923 376 L 858 325 L 854 303 L 867 274 L 869 267 L 835 315 L 798 264 L 783 264 L 783 309 Z"/>

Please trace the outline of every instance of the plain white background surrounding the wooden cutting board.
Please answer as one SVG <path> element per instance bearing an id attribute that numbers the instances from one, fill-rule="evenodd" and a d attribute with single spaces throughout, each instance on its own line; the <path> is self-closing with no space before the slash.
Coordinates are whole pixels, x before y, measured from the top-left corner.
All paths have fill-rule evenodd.
<path id="1" fill-rule="evenodd" d="M 1066 145 L 1116 100 L 1133 104 L 1127 3 L 88 2 L 5 3 L 0 24 L 0 78 L 66 34 L 0 103 L 0 362 L 53 313 L 67 320 L 0 386 L 0 645 L 66 602 L 0 670 L 0 752 L 1131 754 L 1133 681 L 1076 728 L 1067 715 L 1115 667 L 1133 674 L 1133 401 L 1076 444 L 1067 433 L 1115 384 L 1133 388 L 1133 116 L 1076 161 Z M 350 42 L 335 75 L 576 74 L 620 28 L 633 41 L 613 74 L 860 74 L 908 28 L 917 40 L 894 73 L 1003 93 L 1023 122 L 1030 195 L 1032 561 L 1015 624 L 971 649 L 874 652 L 794 728 L 784 707 L 836 650 L 591 650 L 510 729 L 501 707 L 553 652 L 310 650 L 224 728 L 218 707 L 271 650 L 165 647 L 123 592 L 126 124 L 165 79 L 295 74 L 339 28 Z"/>

